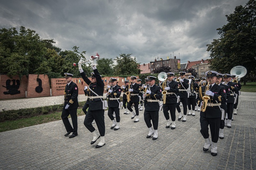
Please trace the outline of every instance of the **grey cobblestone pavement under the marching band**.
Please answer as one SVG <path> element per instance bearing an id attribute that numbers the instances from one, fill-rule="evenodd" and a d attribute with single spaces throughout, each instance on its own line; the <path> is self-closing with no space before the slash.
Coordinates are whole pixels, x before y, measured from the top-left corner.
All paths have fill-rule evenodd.
<path id="1" fill-rule="evenodd" d="M 79 135 L 72 139 L 64 137 L 62 121 L 2 132 L 0 169 L 256 169 L 256 93 L 242 92 L 238 108 L 232 128 L 225 127 L 224 139 L 218 140 L 217 156 L 202 151 L 199 112 L 187 116 L 186 122 L 176 121 L 174 130 L 165 128 L 160 112 L 158 139 L 152 140 L 146 138 L 144 111 L 134 123 L 131 114 L 120 109 L 118 131 L 110 129 L 112 122 L 105 112 L 106 145 L 99 149 L 98 142 L 90 145 L 85 116 L 78 117 Z"/>

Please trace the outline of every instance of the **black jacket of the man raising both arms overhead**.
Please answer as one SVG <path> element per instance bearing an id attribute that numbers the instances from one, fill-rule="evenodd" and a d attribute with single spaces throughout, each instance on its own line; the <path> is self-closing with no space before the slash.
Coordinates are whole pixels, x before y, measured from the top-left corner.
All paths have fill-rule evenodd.
<path id="1" fill-rule="evenodd" d="M 83 80 L 85 81 L 85 83 L 89 85 L 91 90 L 93 90 L 99 96 L 103 96 L 104 83 L 101 80 L 99 71 L 97 69 L 95 69 L 93 71 L 94 71 L 94 74 L 95 74 L 95 77 L 96 77 L 96 83 L 91 83 L 91 81 L 86 77 L 86 74 L 84 72 L 82 72 L 80 74 L 81 74 Z M 89 90 L 89 96 L 97 96 L 91 90 Z M 89 109 L 88 109 L 88 111 L 96 111 L 96 110 L 103 109 L 102 101 L 103 101 L 103 98 L 89 99 Z"/>

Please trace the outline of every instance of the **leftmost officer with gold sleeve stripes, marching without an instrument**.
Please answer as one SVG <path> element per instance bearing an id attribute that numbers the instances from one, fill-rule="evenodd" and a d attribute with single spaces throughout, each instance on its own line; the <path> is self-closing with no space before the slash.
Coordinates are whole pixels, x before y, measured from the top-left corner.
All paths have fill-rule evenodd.
<path id="1" fill-rule="evenodd" d="M 65 87 L 64 106 L 61 113 L 61 119 L 68 132 L 64 136 L 68 136 L 71 132 L 73 132 L 72 135 L 69 136 L 69 138 L 73 138 L 77 136 L 77 107 L 79 107 L 78 99 L 77 99 L 78 87 L 72 81 L 73 74 L 70 74 L 70 73 L 64 73 L 64 74 L 65 74 L 67 85 Z M 72 120 L 73 128 L 69 122 L 69 118 L 68 118 L 69 115 Z"/>

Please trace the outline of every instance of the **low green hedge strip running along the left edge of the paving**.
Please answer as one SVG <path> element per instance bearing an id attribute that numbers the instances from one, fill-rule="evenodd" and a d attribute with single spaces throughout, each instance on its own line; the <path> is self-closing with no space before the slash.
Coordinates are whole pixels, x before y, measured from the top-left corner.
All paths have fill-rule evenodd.
<path id="1" fill-rule="evenodd" d="M 79 108 L 84 106 L 86 101 L 79 102 Z M 6 120 L 17 120 L 21 118 L 29 118 L 38 115 L 46 115 L 52 112 L 62 111 L 63 104 L 35 107 L 35 108 L 24 108 L 18 110 L 9 110 L 0 112 L 0 122 Z"/>

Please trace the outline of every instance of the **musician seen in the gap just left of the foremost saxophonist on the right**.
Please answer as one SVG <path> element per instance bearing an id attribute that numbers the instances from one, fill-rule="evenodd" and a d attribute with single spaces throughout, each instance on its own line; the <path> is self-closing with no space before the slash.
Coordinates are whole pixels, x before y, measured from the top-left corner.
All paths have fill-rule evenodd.
<path id="1" fill-rule="evenodd" d="M 191 79 L 191 83 L 193 83 L 194 85 L 194 91 L 193 93 L 189 93 L 188 95 L 188 102 L 187 102 L 187 107 L 188 107 L 188 116 L 192 115 L 195 116 L 195 106 L 196 106 L 196 85 L 198 85 L 197 83 L 194 82 L 195 77 L 193 75 L 189 75 L 188 79 Z M 199 86 L 198 86 L 199 88 Z M 192 111 L 191 111 L 191 106 L 192 106 Z"/>

